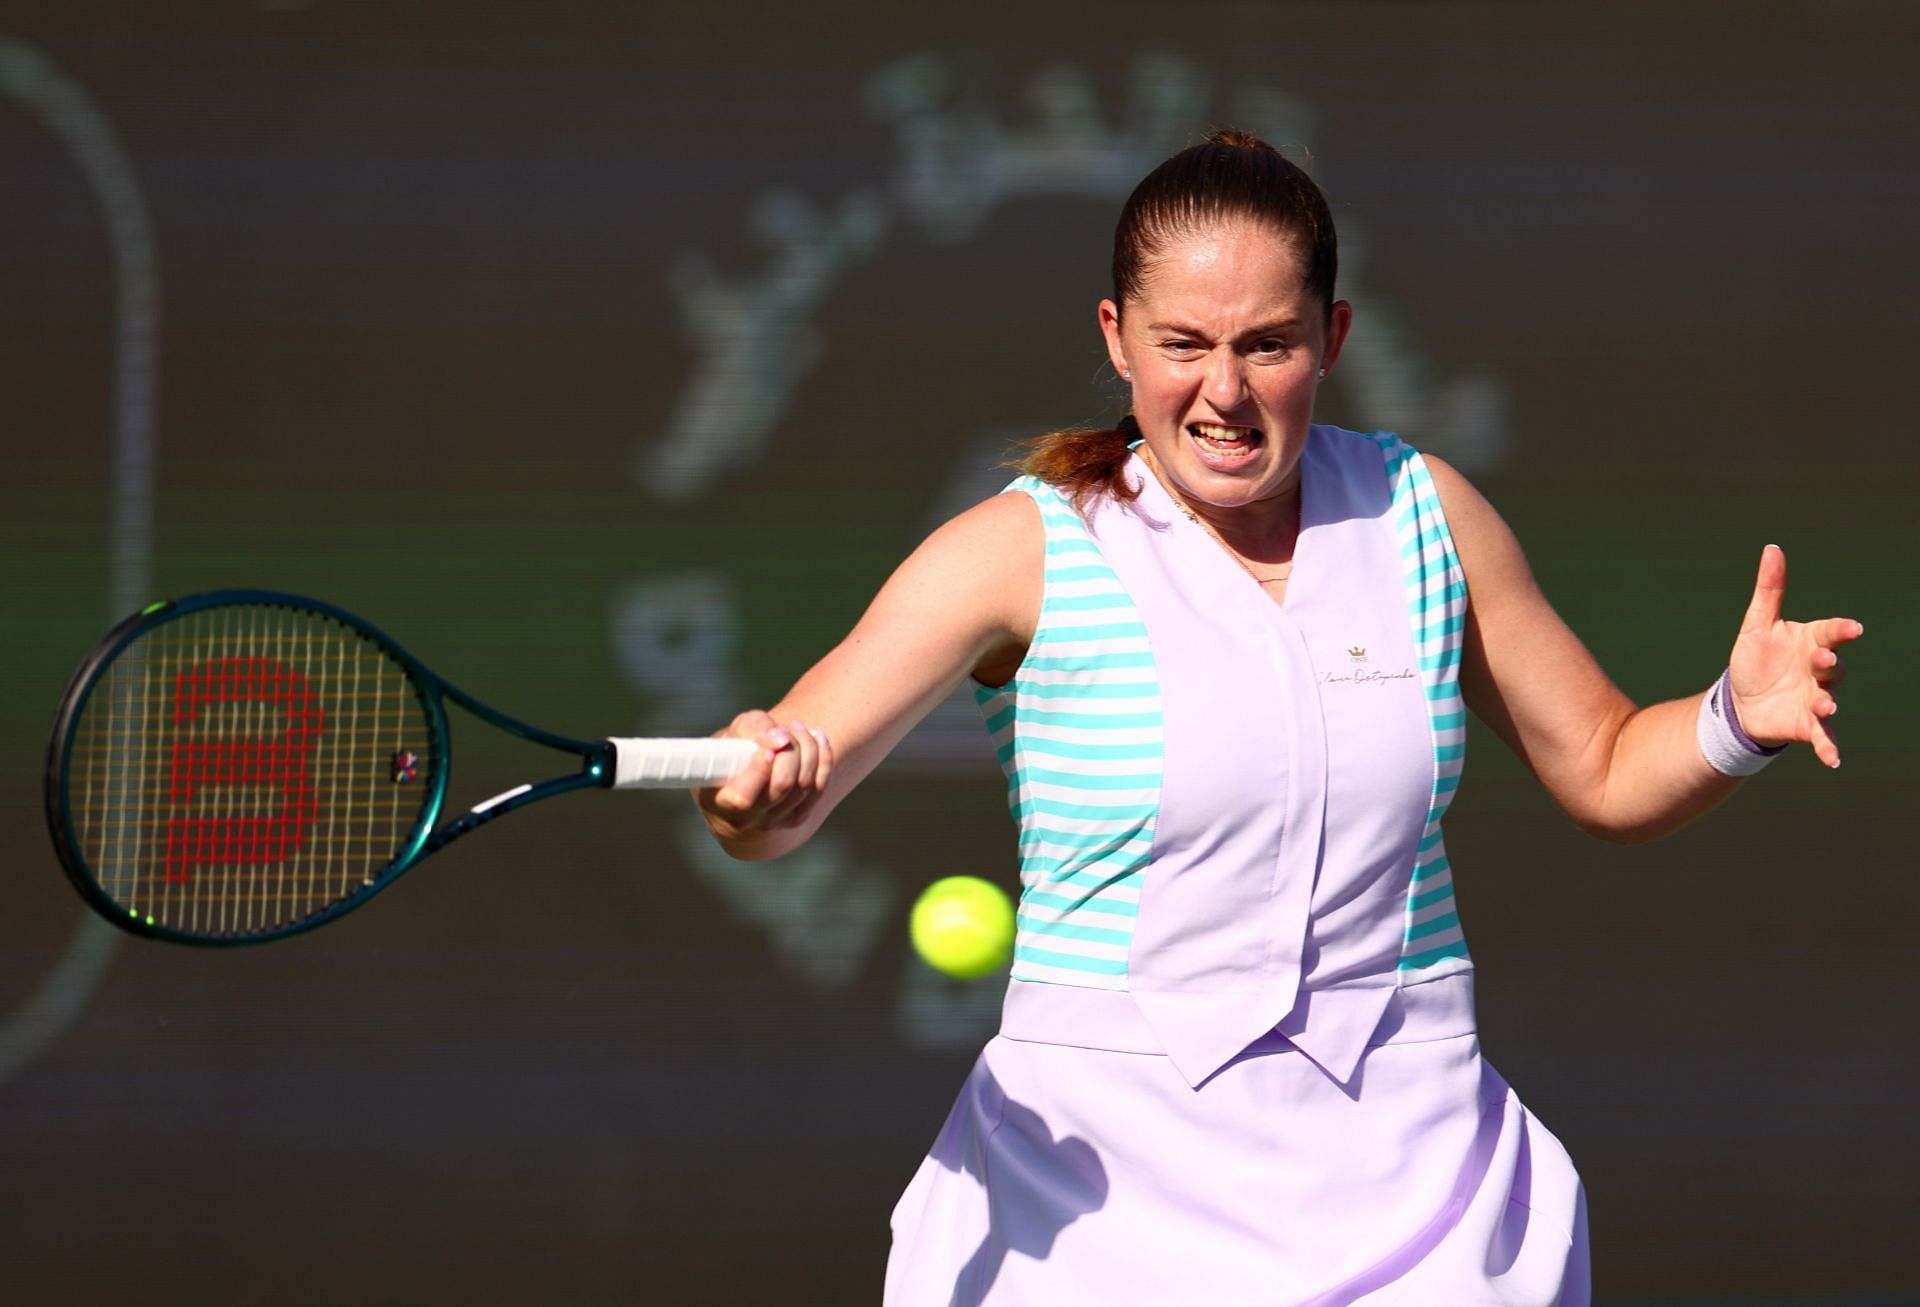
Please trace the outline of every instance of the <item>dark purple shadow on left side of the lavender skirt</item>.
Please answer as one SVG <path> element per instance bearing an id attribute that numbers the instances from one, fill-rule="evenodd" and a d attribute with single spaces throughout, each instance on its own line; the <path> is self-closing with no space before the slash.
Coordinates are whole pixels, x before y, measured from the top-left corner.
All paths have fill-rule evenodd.
<path id="1" fill-rule="evenodd" d="M 972 1175 L 987 1194 L 987 1236 L 954 1276 L 947 1307 L 981 1307 L 1010 1251 L 1044 1259 L 1064 1228 L 1106 1205 L 1106 1167 L 1092 1144 L 1071 1134 L 1056 1140 L 1041 1113 L 981 1073 L 973 1092 L 998 1102 L 996 1123 L 983 1138 L 950 1130 L 933 1146 L 937 1163 Z"/>

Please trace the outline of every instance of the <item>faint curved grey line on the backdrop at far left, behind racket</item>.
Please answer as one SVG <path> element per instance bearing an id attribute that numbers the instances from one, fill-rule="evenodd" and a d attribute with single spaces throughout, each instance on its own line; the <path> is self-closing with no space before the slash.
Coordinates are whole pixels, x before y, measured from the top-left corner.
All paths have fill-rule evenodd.
<path id="1" fill-rule="evenodd" d="M 113 251 L 113 484 L 108 622 L 148 599 L 154 549 L 154 409 L 159 269 L 154 226 L 111 125 L 81 86 L 35 50 L 0 36 L 0 94 L 60 140 L 100 202 Z M 48 858 L 52 871 L 52 858 Z M 67 950 L 40 988 L 0 1023 L 0 1082 L 33 1061 L 81 1015 L 106 975 L 121 933 L 83 912 Z"/>

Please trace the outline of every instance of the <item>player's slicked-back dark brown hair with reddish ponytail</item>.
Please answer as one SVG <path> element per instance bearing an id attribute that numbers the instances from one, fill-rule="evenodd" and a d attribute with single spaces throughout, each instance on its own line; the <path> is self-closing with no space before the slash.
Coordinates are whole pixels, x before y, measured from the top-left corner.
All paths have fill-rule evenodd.
<path id="1" fill-rule="evenodd" d="M 1140 297 L 1146 265 L 1181 236 L 1215 223 L 1258 223 L 1300 244 L 1302 284 L 1332 313 L 1340 248 L 1327 196 L 1298 165 L 1252 132 L 1221 129 L 1156 167 L 1127 196 L 1114 226 L 1114 303 L 1125 313 Z M 1133 499 L 1127 445 L 1140 438 L 1131 416 L 1114 428 L 1050 432 L 1023 445 L 1021 472 L 1066 491 L 1077 509 L 1096 493 Z"/>

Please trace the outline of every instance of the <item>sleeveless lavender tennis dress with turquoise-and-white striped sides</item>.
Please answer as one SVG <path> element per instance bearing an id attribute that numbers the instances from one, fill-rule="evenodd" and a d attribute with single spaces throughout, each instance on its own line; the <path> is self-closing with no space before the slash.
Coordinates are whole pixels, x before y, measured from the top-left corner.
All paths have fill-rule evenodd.
<path id="1" fill-rule="evenodd" d="M 1584 1307 L 1578 1175 L 1475 1034 L 1440 839 L 1467 595 L 1425 464 L 1311 430 L 1284 608 L 1129 474 L 1089 520 L 1016 484 L 1046 599 L 981 701 L 1020 940 L 887 1307 Z"/>

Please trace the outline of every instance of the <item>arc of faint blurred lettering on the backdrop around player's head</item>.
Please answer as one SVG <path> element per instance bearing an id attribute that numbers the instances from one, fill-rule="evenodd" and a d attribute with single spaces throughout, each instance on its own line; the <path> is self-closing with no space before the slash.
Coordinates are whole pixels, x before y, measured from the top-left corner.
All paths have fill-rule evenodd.
<path id="1" fill-rule="evenodd" d="M 828 296 L 881 242 L 906 226 L 935 244 L 970 240 L 996 205 L 1041 196 L 1121 200 L 1162 159 L 1198 138 L 1212 83 L 1160 54 L 1135 61 L 1127 104 L 1108 125 L 1092 75 L 1037 73 L 1027 115 L 1010 123 L 977 61 L 922 54 L 868 84 L 872 111 L 893 127 L 895 171 L 839 202 L 768 190 L 749 209 L 749 234 L 770 248 L 753 273 L 722 274 L 685 251 L 668 267 L 682 322 L 699 353 L 666 432 L 634 457 L 647 495 L 687 501 L 772 443 L 799 384 L 826 355 L 818 315 Z M 1235 92 L 1231 115 L 1292 152 L 1308 152 L 1317 111 L 1277 86 Z M 1357 284 L 1365 232 L 1342 234 L 1342 282 Z M 772 363 L 770 363 L 772 361 Z M 1369 426 L 1388 426 L 1471 472 L 1500 466 L 1505 392 L 1498 378 L 1440 380 L 1400 326 L 1386 296 L 1367 296 L 1340 384 Z"/>

